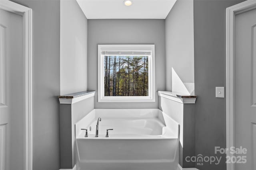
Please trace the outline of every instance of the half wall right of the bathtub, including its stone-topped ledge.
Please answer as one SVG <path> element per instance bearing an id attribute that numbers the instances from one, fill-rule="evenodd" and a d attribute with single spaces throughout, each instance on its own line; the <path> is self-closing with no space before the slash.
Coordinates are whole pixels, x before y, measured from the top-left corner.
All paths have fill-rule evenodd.
<path id="1" fill-rule="evenodd" d="M 179 164 L 182 168 L 194 168 L 194 162 L 186 162 L 186 156 L 195 156 L 195 102 L 197 96 L 176 92 L 158 91 L 159 109 L 180 124 Z"/>

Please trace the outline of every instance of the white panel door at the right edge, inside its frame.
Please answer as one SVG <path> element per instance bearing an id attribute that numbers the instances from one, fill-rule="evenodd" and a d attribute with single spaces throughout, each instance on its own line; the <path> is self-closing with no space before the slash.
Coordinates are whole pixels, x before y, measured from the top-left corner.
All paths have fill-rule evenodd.
<path id="1" fill-rule="evenodd" d="M 231 161 L 236 170 L 256 170 L 256 10 L 236 16 L 235 63 L 235 147 L 247 153 Z"/>

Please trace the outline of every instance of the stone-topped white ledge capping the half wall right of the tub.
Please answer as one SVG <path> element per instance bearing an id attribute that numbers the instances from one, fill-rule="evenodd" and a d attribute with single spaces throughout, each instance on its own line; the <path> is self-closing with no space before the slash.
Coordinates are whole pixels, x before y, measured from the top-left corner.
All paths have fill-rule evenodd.
<path id="1" fill-rule="evenodd" d="M 177 92 L 158 91 L 158 96 L 179 102 L 182 104 L 195 104 L 196 96 L 180 94 Z"/>

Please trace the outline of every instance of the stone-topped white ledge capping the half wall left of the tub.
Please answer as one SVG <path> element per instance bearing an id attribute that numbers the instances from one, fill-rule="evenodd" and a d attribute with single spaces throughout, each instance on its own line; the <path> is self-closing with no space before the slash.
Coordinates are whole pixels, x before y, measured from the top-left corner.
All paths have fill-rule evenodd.
<path id="1" fill-rule="evenodd" d="M 60 104 L 74 104 L 76 102 L 80 102 L 81 100 L 85 100 L 95 96 L 95 91 L 84 91 L 84 92 L 77 92 L 72 94 L 66 94 L 63 96 L 58 96 Z"/>

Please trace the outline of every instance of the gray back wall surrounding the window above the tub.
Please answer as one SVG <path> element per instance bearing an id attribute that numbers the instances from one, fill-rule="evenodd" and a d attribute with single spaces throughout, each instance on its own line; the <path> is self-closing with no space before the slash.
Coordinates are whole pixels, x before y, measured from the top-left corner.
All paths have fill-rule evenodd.
<path id="1" fill-rule="evenodd" d="M 95 108 L 158 108 L 156 102 L 98 102 L 98 44 L 155 44 L 156 90 L 165 89 L 164 20 L 88 20 L 88 90 L 96 90 Z"/>

